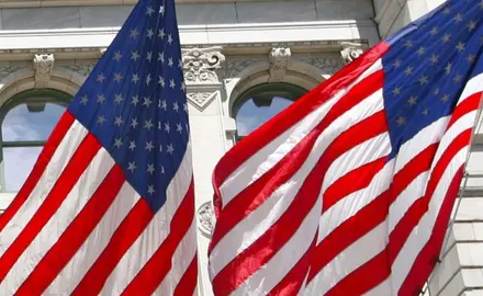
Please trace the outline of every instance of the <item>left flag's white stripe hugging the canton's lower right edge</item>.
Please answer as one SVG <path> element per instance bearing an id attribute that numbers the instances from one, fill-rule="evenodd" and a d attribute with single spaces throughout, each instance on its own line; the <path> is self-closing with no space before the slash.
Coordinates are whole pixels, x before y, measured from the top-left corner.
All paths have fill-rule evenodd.
<path id="1" fill-rule="evenodd" d="M 112 271 L 101 292 L 102 295 L 120 295 L 159 249 L 159 246 L 169 236 L 170 223 L 187 195 L 191 181 L 192 166 L 189 144 L 178 172 L 168 185 L 167 202 Z"/>

